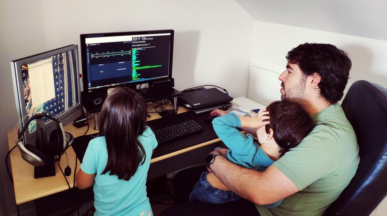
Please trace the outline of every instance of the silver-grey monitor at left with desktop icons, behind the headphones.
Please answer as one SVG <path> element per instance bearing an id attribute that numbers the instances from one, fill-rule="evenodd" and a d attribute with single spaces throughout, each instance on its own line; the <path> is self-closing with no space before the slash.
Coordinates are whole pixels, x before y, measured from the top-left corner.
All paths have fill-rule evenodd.
<path id="1" fill-rule="evenodd" d="M 11 68 L 18 117 L 25 117 L 22 127 L 31 116 L 43 111 L 58 116 L 63 126 L 82 114 L 77 45 L 11 61 Z M 48 118 L 44 122 L 50 136 L 55 122 Z M 35 143 L 35 131 L 36 120 L 24 133 L 24 143 Z"/>

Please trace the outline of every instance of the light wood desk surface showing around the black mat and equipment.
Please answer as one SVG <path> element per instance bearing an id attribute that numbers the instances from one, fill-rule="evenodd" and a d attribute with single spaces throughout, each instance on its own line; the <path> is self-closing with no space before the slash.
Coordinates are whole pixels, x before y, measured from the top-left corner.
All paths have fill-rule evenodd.
<path id="1" fill-rule="evenodd" d="M 154 112 L 152 111 L 152 108 L 156 105 L 157 104 L 147 104 L 148 112 Z M 167 106 L 165 107 L 168 109 Z M 178 113 L 187 112 L 187 111 L 188 109 L 186 109 L 185 107 L 179 107 Z M 151 115 L 151 118 L 148 117 L 147 119 L 148 121 L 161 118 L 161 116 L 159 116 L 159 114 L 157 113 L 151 113 L 150 115 Z M 89 119 L 88 122 L 89 122 L 89 131 L 87 131 L 86 134 L 98 133 L 98 131 L 93 129 L 94 119 Z M 86 132 L 87 127 L 75 128 L 72 124 L 69 124 L 64 129 L 65 131 L 73 134 L 74 137 L 78 137 L 78 136 L 82 136 Z M 11 149 L 12 147 L 15 146 L 14 138 L 13 138 L 14 129 L 9 129 L 7 132 L 8 132 L 7 134 L 8 134 L 9 149 Z M 200 143 L 199 145 L 190 146 L 188 148 L 178 150 L 163 156 L 152 158 L 151 163 L 158 162 L 160 160 L 164 160 L 166 158 L 170 158 L 172 156 L 179 155 L 184 152 L 191 151 L 206 145 L 210 145 L 218 141 L 220 141 L 219 138 L 205 143 Z M 66 152 L 68 155 L 69 166 L 72 168 L 72 173 L 70 176 L 67 177 L 67 180 L 68 180 L 68 183 L 70 184 L 70 187 L 72 187 L 74 183 L 75 153 L 71 146 L 68 148 Z M 77 165 L 76 172 L 78 172 L 80 167 L 79 160 L 77 160 L 77 163 L 78 165 Z M 66 160 L 64 160 L 64 158 L 63 160 L 60 161 L 60 166 L 62 167 L 62 169 L 64 169 L 67 166 L 67 162 Z M 62 173 L 60 172 L 57 163 L 55 163 L 55 173 L 56 173 L 55 176 L 34 179 L 34 167 L 29 163 L 25 162 L 21 158 L 20 151 L 15 148 L 10 153 L 10 167 L 11 167 L 12 176 L 14 179 L 16 204 L 28 202 L 34 199 L 38 199 L 40 197 L 48 196 L 50 194 L 54 194 L 68 189 L 67 183 Z"/>

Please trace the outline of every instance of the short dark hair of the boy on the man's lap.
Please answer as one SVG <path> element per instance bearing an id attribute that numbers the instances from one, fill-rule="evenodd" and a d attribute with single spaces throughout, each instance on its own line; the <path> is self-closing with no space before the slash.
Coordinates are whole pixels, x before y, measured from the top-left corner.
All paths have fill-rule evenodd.
<path id="1" fill-rule="evenodd" d="M 266 107 L 266 111 L 269 111 L 270 116 L 266 133 L 270 133 L 270 128 L 273 129 L 274 140 L 282 148 L 279 151 L 282 155 L 300 144 L 315 127 L 307 111 L 296 102 L 274 101 Z"/>

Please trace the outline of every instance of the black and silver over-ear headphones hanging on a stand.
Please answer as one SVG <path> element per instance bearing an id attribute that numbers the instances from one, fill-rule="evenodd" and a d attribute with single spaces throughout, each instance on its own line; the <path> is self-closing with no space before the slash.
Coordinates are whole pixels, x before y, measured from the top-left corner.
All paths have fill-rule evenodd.
<path id="1" fill-rule="evenodd" d="M 47 114 L 38 113 L 31 116 L 31 118 L 28 119 L 27 123 L 20 131 L 20 134 L 19 136 L 17 136 L 17 140 L 15 141 L 17 147 L 21 152 L 22 158 L 35 167 L 45 165 L 45 163 L 48 162 L 48 160 L 50 160 L 51 156 L 63 155 L 63 153 L 67 150 L 68 146 L 71 145 L 74 139 L 74 136 L 72 136 L 72 134 L 65 132 L 65 130 L 63 129 L 62 122 L 57 116 L 48 112 L 46 113 Z M 35 119 L 42 119 L 43 117 L 46 117 L 55 121 L 56 127 L 57 127 L 57 129 L 54 129 L 51 132 L 50 137 L 48 139 L 48 143 L 46 140 L 43 140 L 43 139 L 47 139 L 46 137 L 41 137 L 42 150 L 40 150 L 39 148 L 36 148 L 33 145 L 23 144 L 21 137 L 23 136 L 24 132 L 28 128 L 28 125 L 31 123 L 31 121 Z M 23 119 L 21 121 L 23 121 Z M 21 122 L 19 122 L 18 124 L 21 124 Z M 16 127 L 18 128 L 18 126 Z M 45 128 L 39 128 L 39 124 L 38 124 L 36 133 L 40 133 L 39 130 L 45 131 Z M 67 167 L 68 167 L 68 163 L 67 163 Z"/>

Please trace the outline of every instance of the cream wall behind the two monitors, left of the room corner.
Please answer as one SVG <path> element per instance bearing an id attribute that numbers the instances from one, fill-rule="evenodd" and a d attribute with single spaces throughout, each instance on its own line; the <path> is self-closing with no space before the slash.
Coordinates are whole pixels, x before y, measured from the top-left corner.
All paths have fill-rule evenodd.
<path id="1" fill-rule="evenodd" d="M 247 94 L 254 22 L 234 0 L 1 1 L 0 159 L 8 151 L 6 130 L 17 122 L 11 60 L 79 44 L 82 33 L 174 29 L 176 89 L 213 84 L 240 97 Z M 15 214 L 12 185 L 0 165 L 0 214 Z"/>

